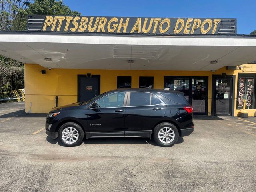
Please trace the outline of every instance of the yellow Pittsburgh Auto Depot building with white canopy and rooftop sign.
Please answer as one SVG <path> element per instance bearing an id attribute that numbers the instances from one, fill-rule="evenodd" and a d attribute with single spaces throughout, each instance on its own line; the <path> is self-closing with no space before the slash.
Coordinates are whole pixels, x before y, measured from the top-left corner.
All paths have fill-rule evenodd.
<path id="1" fill-rule="evenodd" d="M 26 113 L 117 88 L 184 93 L 194 114 L 256 116 L 256 36 L 232 18 L 28 16 L 1 31 L 0 54 L 23 62 Z"/>

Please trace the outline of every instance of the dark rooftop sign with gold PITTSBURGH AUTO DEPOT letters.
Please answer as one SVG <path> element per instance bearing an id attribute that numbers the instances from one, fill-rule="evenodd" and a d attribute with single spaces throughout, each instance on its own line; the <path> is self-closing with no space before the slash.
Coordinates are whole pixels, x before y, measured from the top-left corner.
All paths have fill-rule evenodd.
<path id="1" fill-rule="evenodd" d="M 236 19 L 28 16 L 29 31 L 107 34 L 236 34 Z"/>

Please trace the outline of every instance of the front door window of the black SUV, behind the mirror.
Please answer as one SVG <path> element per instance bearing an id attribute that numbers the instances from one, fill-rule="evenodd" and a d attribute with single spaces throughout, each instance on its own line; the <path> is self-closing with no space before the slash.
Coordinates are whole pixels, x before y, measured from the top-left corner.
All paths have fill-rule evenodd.
<path id="1" fill-rule="evenodd" d="M 100 98 L 96 103 L 100 108 L 122 107 L 124 105 L 125 92 L 117 92 Z"/>

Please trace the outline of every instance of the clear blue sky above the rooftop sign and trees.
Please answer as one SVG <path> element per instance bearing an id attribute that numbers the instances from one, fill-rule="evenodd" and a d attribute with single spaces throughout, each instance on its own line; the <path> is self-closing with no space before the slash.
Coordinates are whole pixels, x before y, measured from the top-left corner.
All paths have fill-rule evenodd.
<path id="1" fill-rule="evenodd" d="M 237 33 L 256 30 L 256 0 L 63 0 L 83 16 L 237 18 Z"/>

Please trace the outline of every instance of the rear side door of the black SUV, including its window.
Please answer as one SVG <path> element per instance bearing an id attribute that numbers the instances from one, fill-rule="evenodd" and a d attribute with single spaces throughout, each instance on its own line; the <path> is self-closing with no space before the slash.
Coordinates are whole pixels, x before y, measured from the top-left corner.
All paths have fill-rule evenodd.
<path id="1" fill-rule="evenodd" d="M 165 103 L 150 92 L 128 92 L 125 136 L 149 137 L 154 125 L 164 117 Z"/>

